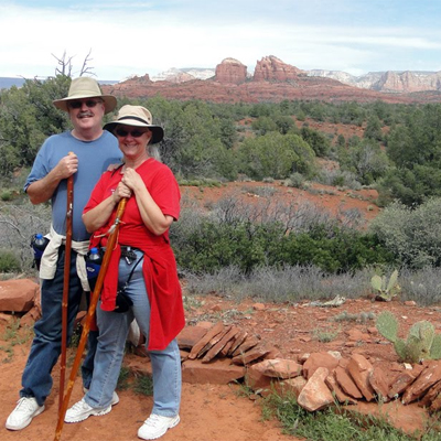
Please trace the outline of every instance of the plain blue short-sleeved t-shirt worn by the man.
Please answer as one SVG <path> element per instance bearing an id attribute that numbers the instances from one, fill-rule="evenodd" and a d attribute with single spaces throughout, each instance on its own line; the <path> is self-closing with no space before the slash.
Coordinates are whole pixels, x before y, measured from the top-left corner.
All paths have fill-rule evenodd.
<path id="1" fill-rule="evenodd" d="M 47 138 L 36 154 L 24 191 L 43 179 L 69 152 L 78 157 L 78 171 L 74 174 L 73 240 L 88 240 L 89 234 L 82 220 L 83 208 L 101 174 L 109 164 L 120 163 L 122 153 L 118 140 L 107 130 L 94 141 L 82 141 L 69 131 Z M 52 225 L 56 233 L 66 234 L 67 180 L 62 180 L 52 196 Z"/>

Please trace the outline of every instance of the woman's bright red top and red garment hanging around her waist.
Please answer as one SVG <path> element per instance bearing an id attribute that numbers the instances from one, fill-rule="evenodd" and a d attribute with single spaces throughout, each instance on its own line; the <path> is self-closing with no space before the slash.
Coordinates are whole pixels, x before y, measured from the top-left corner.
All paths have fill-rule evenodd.
<path id="1" fill-rule="evenodd" d="M 179 218 L 181 193 L 172 171 L 163 163 L 148 159 L 137 169 L 147 190 L 164 215 Z M 96 184 L 84 213 L 109 197 L 121 181 L 119 171 L 106 172 Z M 107 244 L 105 235 L 114 225 L 116 211 L 107 224 L 90 238 L 90 248 Z M 144 225 L 135 196 L 127 202 L 119 226 L 117 246 L 111 254 L 109 267 L 104 279 L 101 309 L 114 311 L 118 287 L 118 266 L 120 245 L 139 248 L 144 254 L 142 271 L 150 301 L 150 351 L 164 349 L 184 327 L 184 308 L 181 286 L 178 279 L 176 261 L 169 241 L 169 232 L 157 236 Z"/>

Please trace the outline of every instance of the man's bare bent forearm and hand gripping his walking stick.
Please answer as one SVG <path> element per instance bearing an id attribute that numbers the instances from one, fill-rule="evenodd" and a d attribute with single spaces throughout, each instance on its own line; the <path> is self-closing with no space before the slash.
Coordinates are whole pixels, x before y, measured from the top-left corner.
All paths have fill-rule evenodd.
<path id="1" fill-rule="evenodd" d="M 76 154 L 68 154 L 60 160 L 56 166 L 44 178 L 33 182 L 26 189 L 26 193 L 32 204 L 41 204 L 49 201 L 54 194 L 60 182 L 76 173 L 78 170 L 78 158 Z"/>

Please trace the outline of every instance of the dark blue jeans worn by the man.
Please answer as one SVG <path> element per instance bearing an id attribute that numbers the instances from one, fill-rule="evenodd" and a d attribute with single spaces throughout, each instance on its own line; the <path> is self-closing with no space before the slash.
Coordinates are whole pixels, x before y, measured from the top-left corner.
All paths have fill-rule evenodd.
<path id="1" fill-rule="evenodd" d="M 34 340 L 22 375 L 23 388 L 20 390 L 20 397 L 35 397 L 39 406 L 44 404 L 51 392 L 53 384 L 51 373 L 62 349 L 63 281 L 64 248 L 61 248 L 54 279 L 43 280 L 42 282 L 42 318 L 34 325 Z M 78 312 L 82 294 L 82 283 L 76 273 L 76 252 L 72 251 L 67 306 L 68 341 L 73 333 L 74 321 Z M 93 352 L 88 353 L 83 366 L 86 376 L 92 377 L 94 369 Z M 68 378 L 68 373 L 66 374 L 66 378 Z"/>

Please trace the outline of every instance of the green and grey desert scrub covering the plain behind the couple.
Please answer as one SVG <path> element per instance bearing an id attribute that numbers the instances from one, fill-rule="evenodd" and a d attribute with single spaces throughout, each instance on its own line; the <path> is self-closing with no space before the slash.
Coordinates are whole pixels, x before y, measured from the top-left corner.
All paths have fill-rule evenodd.
<path id="1" fill-rule="evenodd" d="M 50 209 L 32 206 L 21 189 L 43 140 L 69 128 L 52 105 L 68 85 L 68 76 L 57 75 L 0 92 L 2 278 L 36 276 L 30 240 L 47 230 Z M 161 158 L 182 186 L 278 180 L 306 191 L 312 182 L 378 191 L 383 211 L 367 227 L 357 213 L 335 217 L 309 204 L 294 206 L 268 187 L 252 205 L 233 196 L 209 206 L 184 198 L 171 240 L 189 294 L 292 303 L 359 298 L 373 293 L 374 276 L 396 275 L 400 300 L 440 302 L 441 105 L 119 100 L 129 103 L 147 106 L 164 127 Z M 320 130 L 325 122 L 333 132 Z M 294 406 L 279 402 L 279 418 L 299 428 L 315 418 Z M 338 418 L 330 418 L 342 439 Z"/>

